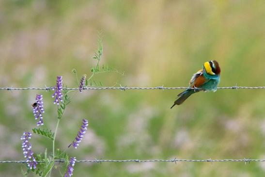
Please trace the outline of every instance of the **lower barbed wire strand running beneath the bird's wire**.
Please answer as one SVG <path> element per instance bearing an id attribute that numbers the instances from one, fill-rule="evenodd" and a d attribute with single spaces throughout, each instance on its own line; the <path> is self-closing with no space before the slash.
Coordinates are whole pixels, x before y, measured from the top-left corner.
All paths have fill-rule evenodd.
<path id="1" fill-rule="evenodd" d="M 260 160 L 260 159 L 221 159 L 221 160 L 212 160 L 212 159 L 205 159 L 205 160 L 187 160 L 187 159 L 170 159 L 170 160 L 139 160 L 139 159 L 134 159 L 134 160 L 98 160 L 98 159 L 94 159 L 94 160 L 79 160 L 76 162 L 91 162 L 91 163 L 102 163 L 102 162 L 245 162 L 245 164 L 247 164 L 247 162 L 265 162 L 265 160 Z M 28 161 L 0 161 L 0 163 L 27 163 Z M 44 162 L 44 161 L 37 161 L 37 162 Z M 54 162 L 65 162 L 63 159 L 61 160 L 56 160 Z"/>

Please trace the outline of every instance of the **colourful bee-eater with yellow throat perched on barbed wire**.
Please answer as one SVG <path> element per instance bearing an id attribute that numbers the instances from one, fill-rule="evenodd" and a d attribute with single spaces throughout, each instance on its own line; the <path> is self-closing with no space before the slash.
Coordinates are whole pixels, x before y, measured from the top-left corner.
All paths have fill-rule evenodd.
<path id="1" fill-rule="evenodd" d="M 182 104 L 189 96 L 194 93 L 200 91 L 216 92 L 217 85 L 220 82 L 220 73 L 221 69 L 217 61 L 211 60 L 209 62 L 205 62 L 203 64 L 203 69 L 193 74 L 191 80 L 189 81 L 190 88 L 187 88 L 184 92 L 178 95 L 177 100 L 174 102 L 171 108 L 173 108 L 175 105 Z"/>

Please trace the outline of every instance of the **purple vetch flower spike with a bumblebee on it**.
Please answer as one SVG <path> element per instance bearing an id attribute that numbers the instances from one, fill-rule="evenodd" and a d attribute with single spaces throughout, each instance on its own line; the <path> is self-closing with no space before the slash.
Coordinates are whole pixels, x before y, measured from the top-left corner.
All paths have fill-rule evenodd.
<path id="1" fill-rule="evenodd" d="M 42 113 L 44 113 L 44 109 L 43 109 L 42 99 L 43 99 L 42 95 L 36 95 L 36 102 L 32 104 L 35 120 L 39 119 L 39 121 L 37 122 L 37 126 L 43 125 Z"/>

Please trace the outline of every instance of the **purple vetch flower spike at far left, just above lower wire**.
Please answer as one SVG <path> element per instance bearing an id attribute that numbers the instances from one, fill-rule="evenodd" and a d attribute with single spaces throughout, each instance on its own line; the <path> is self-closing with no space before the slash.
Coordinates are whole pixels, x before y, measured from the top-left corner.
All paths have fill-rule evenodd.
<path id="1" fill-rule="evenodd" d="M 22 150 L 24 157 L 26 158 L 26 162 L 28 163 L 28 167 L 30 169 L 35 169 L 36 165 L 38 164 L 33 157 L 33 152 L 31 151 L 31 144 L 29 143 L 29 139 L 31 139 L 31 133 L 30 132 L 24 132 L 23 136 L 21 136 L 22 140 Z"/>

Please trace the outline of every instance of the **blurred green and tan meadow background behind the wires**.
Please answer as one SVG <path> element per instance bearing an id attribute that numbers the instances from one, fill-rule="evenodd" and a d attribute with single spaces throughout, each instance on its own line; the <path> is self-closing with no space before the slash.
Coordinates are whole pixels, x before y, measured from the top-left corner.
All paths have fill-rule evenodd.
<path id="1" fill-rule="evenodd" d="M 219 86 L 265 85 L 264 0 L 0 0 L 0 87 L 53 86 L 73 68 L 91 74 L 97 32 L 102 64 L 125 72 L 97 74 L 105 86 L 187 86 L 205 61 L 221 66 Z M 90 121 L 78 160 L 264 159 L 265 91 L 198 93 L 170 109 L 181 90 L 72 93 L 59 126 L 65 149 L 80 121 Z M 45 128 L 56 106 L 46 91 L 0 91 L 0 160 L 23 160 L 20 136 L 36 127 L 31 104 L 43 94 Z M 35 154 L 51 143 L 33 136 Z M 0 176 L 21 176 L 23 164 L 0 164 Z M 53 170 L 52 176 L 59 176 Z M 254 177 L 265 163 L 77 163 L 74 177 Z"/>

